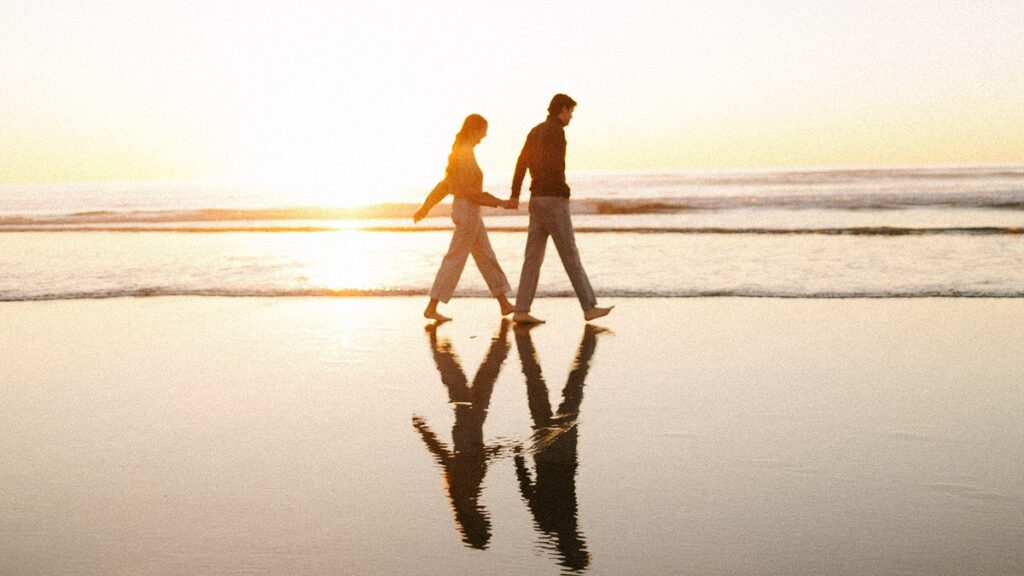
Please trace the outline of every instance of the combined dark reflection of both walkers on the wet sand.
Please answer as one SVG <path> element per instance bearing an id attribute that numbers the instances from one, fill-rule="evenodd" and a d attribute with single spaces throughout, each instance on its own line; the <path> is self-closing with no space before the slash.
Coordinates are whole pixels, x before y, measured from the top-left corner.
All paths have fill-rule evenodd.
<path id="1" fill-rule="evenodd" d="M 436 325 L 427 328 L 434 364 L 449 390 L 449 402 L 455 406 L 453 446 L 445 446 L 424 418 L 414 416 L 413 425 L 442 469 L 456 527 L 467 546 L 484 549 L 490 541 L 490 517 L 479 502 L 483 478 L 490 461 L 511 451 L 519 493 L 534 516 L 541 547 L 563 568 L 581 572 L 590 566 L 591 558 L 579 526 L 577 421 L 597 334 L 603 329 L 593 325 L 585 328 L 574 365 L 562 388 L 561 403 L 558 410 L 553 411 L 530 337 L 531 328 L 516 326 L 514 329 L 534 422 L 528 448 L 524 449 L 523 443 L 515 441 L 488 446 L 483 440 L 490 395 L 509 352 L 507 321 L 502 321 L 472 386 L 467 383 L 451 341 L 437 338 Z M 527 465 L 527 456 L 532 456 L 532 469 Z"/>

